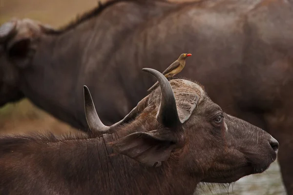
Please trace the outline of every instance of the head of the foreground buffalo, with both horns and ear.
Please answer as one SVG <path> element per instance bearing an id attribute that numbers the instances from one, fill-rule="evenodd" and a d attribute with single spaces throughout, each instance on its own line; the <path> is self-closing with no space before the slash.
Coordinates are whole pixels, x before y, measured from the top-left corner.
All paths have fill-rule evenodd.
<path id="1" fill-rule="evenodd" d="M 276 159 L 278 142 L 270 134 L 224 113 L 202 86 L 143 70 L 160 87 L 110 127 L 99 119 L 84 86 L 89 127 L 118 134 L 115 151 L 146 166 L 168 166 L 178 178 L 218 183 L 261 173 Z"/>

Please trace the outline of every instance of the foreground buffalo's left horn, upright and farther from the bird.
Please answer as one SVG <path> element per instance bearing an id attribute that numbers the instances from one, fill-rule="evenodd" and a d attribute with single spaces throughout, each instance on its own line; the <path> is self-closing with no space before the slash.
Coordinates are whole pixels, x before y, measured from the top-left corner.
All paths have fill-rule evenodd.
<path id="1" fill-rule="evenodd" d="M 108 126 L 105 126 L 100 120 L 93 99 L 90 95 L 88 88 L 84 85 L 84 112 L 89 129 L 93 131 L 106 131 L 109 129 Z"/>

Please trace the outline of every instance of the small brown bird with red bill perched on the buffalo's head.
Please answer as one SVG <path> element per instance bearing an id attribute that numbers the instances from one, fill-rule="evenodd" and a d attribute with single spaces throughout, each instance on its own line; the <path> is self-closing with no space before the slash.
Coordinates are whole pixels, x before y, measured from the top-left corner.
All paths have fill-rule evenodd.
<path id="1" fill-rule="evenodd" d="M 177 75 L 178 73 L 180 73 L 183 68 L 185 67 L 185 59 L 187 59 L 188 56 L 191 56 L 191 54 L 181 54 L 179 56 L 178 59 L 176 59 L 176 61 L 174 61 L 173 63 L 171 63 L 171 65 L 169 65 L 169 67 L 164 70 L 164 72 L 162 73 L 166 78 L 172 78 L 175 75 Z M 157 85 L 159 84 L 159 82 L 157 81 L 153 86 L 151 86 L 147 92 L 151 92 Z"/>

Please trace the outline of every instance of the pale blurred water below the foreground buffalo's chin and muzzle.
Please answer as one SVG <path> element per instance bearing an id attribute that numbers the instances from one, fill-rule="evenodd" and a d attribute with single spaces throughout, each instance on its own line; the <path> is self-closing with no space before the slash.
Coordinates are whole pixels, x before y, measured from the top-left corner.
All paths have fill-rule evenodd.
<path id="1" fill-rule="evenodd" d="M 262 174 L 245 176 L 229 186 L 204 186 L 200 195 L 286 195 L 280 167 L 275 161 Z"/>

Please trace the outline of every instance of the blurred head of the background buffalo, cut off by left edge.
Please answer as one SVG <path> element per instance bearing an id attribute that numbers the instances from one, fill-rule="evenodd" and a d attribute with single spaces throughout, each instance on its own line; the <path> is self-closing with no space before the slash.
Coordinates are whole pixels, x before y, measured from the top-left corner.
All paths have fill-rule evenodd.
<path id="1" fill-rule="evenodd" d="M 0 26 L 0 106 L 23 98 L 21 71 L 31 63 L 42 33 L 52 30 L 29 19 L 13 19 Z"/>

